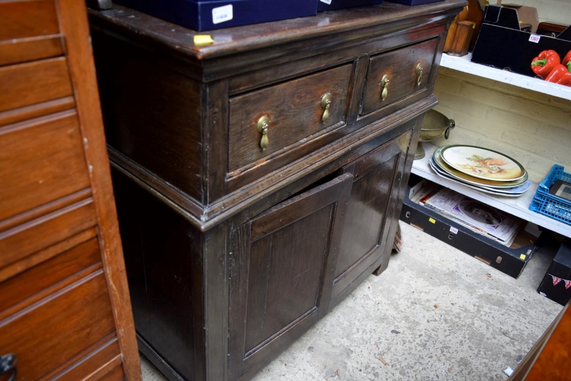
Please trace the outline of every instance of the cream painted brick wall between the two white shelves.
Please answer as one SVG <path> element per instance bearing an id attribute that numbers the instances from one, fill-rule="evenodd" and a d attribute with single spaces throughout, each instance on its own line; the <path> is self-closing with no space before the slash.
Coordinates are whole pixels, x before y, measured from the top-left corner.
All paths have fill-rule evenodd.
<path id="1" fill-rule="evenodd" d="M 553 164 L 571 172 L 571 101 L 440 67 L 435 107 L 456 122 L 446 141 L 501 151 L 541 182 Z"/>

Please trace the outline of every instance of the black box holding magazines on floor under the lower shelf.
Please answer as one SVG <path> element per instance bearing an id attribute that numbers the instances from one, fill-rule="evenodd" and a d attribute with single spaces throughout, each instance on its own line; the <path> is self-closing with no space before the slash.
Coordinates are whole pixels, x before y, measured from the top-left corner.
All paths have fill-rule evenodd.
<path id="1" fill-rule="evenodd" d="M 536 251 L 537 247 L 529 242 L 536 242 L 537 237 L 532 237 L 523 229 L 510 248 L 473 232 L 427 207 L 412 202 L 409 198 L 410 192 L 411 187 L 408 187 L 400 214 L 401 220 L 505 274 L 517 278 Z"/>

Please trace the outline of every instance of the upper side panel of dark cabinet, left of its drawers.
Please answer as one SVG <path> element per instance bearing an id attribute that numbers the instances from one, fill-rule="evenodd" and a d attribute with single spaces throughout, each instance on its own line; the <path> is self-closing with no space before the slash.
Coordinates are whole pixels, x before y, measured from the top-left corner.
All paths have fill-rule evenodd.
<path id="1" fill-rule="evenodd" d="M 199 83 L 95 30 L 93 47 L 107 143 L 202 201 Z"/>

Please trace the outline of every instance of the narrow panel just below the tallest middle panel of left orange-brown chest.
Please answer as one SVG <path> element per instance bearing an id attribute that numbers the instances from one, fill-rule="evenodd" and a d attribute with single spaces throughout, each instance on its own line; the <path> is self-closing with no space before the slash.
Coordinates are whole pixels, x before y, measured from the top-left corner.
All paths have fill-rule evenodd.
<path id="1" fill-rule="evenodd" d="M 0 267 L 95 226 L 92 199 L 83 200 L 0 234 Z"/>

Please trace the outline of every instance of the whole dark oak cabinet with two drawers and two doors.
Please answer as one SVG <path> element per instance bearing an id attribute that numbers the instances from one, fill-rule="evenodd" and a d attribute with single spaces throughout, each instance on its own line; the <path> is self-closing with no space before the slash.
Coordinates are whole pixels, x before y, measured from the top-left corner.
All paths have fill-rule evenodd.
<path id="1" fill-rule="evenodd" d="M 463 5 L 324 12 L 209 46 L 90 12 L 139 348 L 168 378 L 250 379 L 387 267 Z"/>

